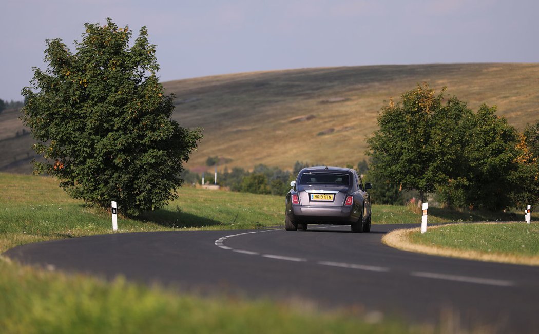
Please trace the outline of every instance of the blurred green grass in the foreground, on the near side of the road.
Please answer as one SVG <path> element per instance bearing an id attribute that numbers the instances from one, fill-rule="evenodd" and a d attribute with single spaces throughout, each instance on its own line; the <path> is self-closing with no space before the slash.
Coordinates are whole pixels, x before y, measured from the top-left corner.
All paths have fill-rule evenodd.
<path id="1" fill-rule="evenodd" d="M 361 314 L 308 305 L 202 298 L 0 261 L 2 333 L 402 333 L 402 323 L 368 324 Z M 298 305 L 299 306 L 299 305 Z"/>

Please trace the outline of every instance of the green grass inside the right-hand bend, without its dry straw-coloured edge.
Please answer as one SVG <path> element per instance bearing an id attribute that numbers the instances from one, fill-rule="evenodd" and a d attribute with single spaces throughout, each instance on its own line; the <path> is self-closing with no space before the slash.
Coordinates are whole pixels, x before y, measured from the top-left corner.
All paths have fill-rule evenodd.
<path id="1" fill-rule="evenodd" d="M 459 224 L 441 226 L 427 233 L 411 233 L 413 243 L 462 251 L 505 255 L 539 255 L 539 224 Z"/>

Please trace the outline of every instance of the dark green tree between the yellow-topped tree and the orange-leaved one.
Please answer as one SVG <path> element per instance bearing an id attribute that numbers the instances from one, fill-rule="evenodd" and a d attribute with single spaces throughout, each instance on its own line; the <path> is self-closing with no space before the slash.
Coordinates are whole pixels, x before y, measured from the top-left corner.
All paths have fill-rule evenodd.
<path id="1" fill-rule="evenodd" d="M 457 173 L 438 184 L 438 194 L 452 206 L 500 210 L 515 205 L 511 196 L 520 189 L 510 179 L 517 169 L 517 131 L 495 112 L 483 104 L 465 120 L 465 132 L 447 134 L 467 138 Z"/>

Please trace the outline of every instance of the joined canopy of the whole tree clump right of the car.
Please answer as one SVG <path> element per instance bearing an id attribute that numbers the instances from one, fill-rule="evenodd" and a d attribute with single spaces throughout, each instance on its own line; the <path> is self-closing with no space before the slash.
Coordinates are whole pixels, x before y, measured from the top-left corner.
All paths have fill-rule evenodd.
<path id="1" fill-rule="evenodd" d="M 396 184 L 399 190 L 418 190 L 420 200 L 425 193 L 437 193 L 460 208 L 496 210 L 523 201 L 537 203 L 538 153 L 533 147 L 539 125 L 519 134 L 495 115 L 494 106 L 483 104 L 474 113 L 444 93 L 445 88 L 436 94 L 428 84 L 418 84 L 398 103 L 383 106 L 379 130 L 367 140 L 370 180 L 385 188 Z M 523 190 L 526 185 L 528 190 Z M 388 198 L 397 197 L 392 193 Z"/>

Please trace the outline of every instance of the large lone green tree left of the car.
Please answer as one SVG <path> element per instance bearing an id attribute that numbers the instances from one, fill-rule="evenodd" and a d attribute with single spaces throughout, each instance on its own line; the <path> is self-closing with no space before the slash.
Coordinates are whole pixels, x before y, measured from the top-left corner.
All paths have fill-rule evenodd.
<path id="1" fill-rule="evenodd" d="M 156 72 L 155 45 L 142 27 L 132 31 L 112 20 L 85 24 L 76 52 L 47 40 L 47 68 L 34 68 L 23 122 L 46 162 L 36 172 L 58 177 L 74 198 L 137 215 L 177 195 L 183 162 L 202 138 L 171 120 L 173 96 L 164 94 Z"/>

